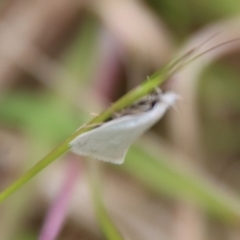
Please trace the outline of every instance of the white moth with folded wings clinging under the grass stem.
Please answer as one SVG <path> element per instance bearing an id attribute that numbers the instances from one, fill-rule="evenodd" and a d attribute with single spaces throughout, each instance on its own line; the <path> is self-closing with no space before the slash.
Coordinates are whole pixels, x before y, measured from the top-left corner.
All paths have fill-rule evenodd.
<path id="1" fill-rule="evenodd" d="M 153 126 L 177 100 L 173 92 L 160 89 L 113 115 L 112 120 L 70 142 L 71 151 L 105 162 L 121 164 L 130 145 Z"/>

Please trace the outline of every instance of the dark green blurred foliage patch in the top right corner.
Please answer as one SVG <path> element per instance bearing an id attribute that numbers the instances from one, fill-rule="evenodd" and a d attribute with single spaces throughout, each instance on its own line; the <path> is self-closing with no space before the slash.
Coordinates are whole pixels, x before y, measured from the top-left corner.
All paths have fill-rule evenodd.
<path id="1" fill-rule="evenodd" d="M 235 0 L 192 1 L 192 0 L 148 0 L 147 3 L 172 29 L 177 39 L 185 39 L 199 27 L 223 18 L 238 15 L 240 3 Z"/>

